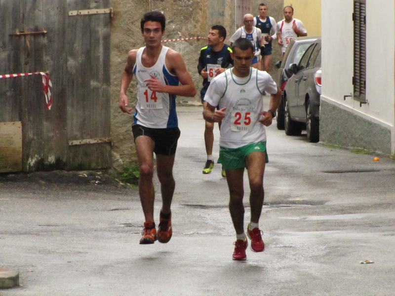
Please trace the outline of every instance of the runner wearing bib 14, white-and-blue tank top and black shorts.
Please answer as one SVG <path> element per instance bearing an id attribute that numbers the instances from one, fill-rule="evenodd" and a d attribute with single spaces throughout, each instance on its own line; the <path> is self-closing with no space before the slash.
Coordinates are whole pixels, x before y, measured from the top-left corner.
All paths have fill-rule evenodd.
<path id="1" fill-rule="evenodd" d="M 126 92 L 136 76 L 137 105 L 132 132 L 140 167 L 139 195 L 145 219 L 140 244 L 153 244 L 157 239 L 167 243 L 172 236 L 173 165 L 180 137 L 175 96 L 196 95 L 194 82 L 181 55 L 162 46 L 165 25 L 163 13 L 151 11 L 144 14 L 140 28 L 146 47 L 129 51 L 119 91 L 119 109 L 132 114 L 132 108 L 127 107 Z M 158 233 L 154 220 L 154 153 L 162 195 Z"/>

